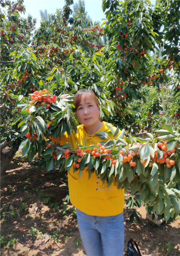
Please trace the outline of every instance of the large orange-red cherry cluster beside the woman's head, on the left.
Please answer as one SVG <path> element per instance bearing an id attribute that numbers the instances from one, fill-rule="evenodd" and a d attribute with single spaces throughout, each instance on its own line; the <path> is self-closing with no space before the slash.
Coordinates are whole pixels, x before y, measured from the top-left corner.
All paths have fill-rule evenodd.
<path id="1" fill-rule="evenodd" d="M 38 106 L 42 106 L 46 104 L 47 109 L 50 107 L 51 103 L 56 102 L 56 96 L 50 95 L 48 90 L 46 89 L 35 91 L 34 93 L 31 94 L 31 99 L 32 101 L 29 102 L 30 105 L 33 105 L 36 102 L 38 102 Z"/>

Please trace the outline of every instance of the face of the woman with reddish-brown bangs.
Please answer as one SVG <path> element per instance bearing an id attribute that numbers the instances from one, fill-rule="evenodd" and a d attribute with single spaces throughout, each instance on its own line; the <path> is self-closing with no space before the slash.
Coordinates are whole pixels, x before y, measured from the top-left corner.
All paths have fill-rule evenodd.
<path id="1" fill-rule="evenodd" d="M 79 119 L 79 122 L 89 130 L 101 122 L 99 120 L 99 114 L 100 109 L 96 105 L 93 96 L 83 95 L 79 106 L 76 109 L 76 115 Z"/>

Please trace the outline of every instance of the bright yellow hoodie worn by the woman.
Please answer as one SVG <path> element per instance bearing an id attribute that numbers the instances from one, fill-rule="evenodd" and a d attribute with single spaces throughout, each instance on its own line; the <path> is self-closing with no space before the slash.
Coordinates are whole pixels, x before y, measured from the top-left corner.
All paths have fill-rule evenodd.
<path id="1" fill-rule="evenodd" d="M 103 125 L 96 133 L 100 131 L 110 131 L 106 124 L 108 123 L 103 122 Z M 113 128 L 116 130 L 116 127 Z M 121 131 L 119 131 L 119 134 L 120 133 Z M 108 141 L 108 139 L 101 139 L 95 134 L 89 135 L 84 125 L 77 127 L 77 133 L 73 132 L 68 136 L 65 132 L 57 140 L 52 138 L 52 141 L 58 142 L 61 145 L 69 142 L 72 148 L 75 148 L 78 144 L 84 144 L 84 138 L 86 140 L 86 146 L 92 144 L 97 145 L 97 143 L 101 141 Z M 107 184 L 103 184 L 99 176 L 96 176 L 95 172 L 93 172 L 91 178 L 88 179 L 88 171 L 84 169 L 79 179 L 79 173 L 73 172 L 72 166 L 68 173 L 68 186 L 71 204 L 86 214 L 94 216 L 112 216 L 122 213 L 123 211 L 124 189 L 118 189 L 116 183 L 107 187 Z"/>

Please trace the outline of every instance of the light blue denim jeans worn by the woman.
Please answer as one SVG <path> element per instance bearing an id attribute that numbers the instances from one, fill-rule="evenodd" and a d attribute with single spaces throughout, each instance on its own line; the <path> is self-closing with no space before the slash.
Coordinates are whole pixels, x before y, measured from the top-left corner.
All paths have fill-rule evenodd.
<path id="1" fill-rule="evenodd" d="M 87 256 L 123 256 L 124 217 L 91 216 L 76 209 L 82 244 Z"/>

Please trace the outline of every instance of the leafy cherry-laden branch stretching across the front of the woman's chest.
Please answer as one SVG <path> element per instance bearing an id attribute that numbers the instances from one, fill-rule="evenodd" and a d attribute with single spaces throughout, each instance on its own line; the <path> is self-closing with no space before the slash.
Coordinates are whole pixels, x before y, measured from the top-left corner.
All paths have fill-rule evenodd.
<path id="1" fill-rule="evenodd" d="M 153 207 L 157 215 L 164 216 L 166 222 L 179 214 L 180 192 L 176 189 L 180 176 L 180 134 L 173 130 L 171 125 L 166 129 L 156 131 L 157 137 L 146 133 L 144 139 L 129 135 L 125 139 L 125 130 L 115 139 L 116 131 L 108 126 L 113 138 L 100 132 L 97 135 L 102 142 L 97 145 L 82 146 L 72 149 L 70 144 L 56 148 L 54 143 L 47 144 L 44 158 L 47 160 L 47 169 L 54 164 L 60 170 L 88 172 L 99 175 L 103 182 L 110 186 L 113 177 L 119 188 L 125 191 L 140 194 L 144 204 Z"/>

